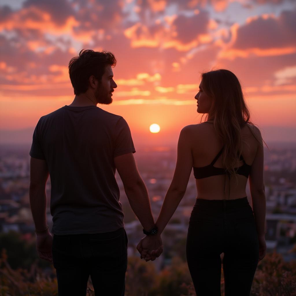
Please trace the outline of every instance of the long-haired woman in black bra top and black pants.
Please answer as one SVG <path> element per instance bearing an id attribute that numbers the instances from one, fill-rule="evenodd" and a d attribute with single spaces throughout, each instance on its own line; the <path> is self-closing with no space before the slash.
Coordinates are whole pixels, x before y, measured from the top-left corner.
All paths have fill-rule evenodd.
<path id="1" fill-rule="evenodd" d="M 250 295 L 258 264 L 266 253 L 266 200 L 263 183 L 263 140 L 250 123 L 237 77 L 228 70 L 202 74 L 195 96 L 204 123 L 185 126 L 178 141 L 172 183 L 157 219 L 157 236 L 183 198 L 193 167 L 197 200 L 191 213 L 186 256 L 198 296 L 221 295 L 221 257 L 225 295 Z M 251 208 L 246 197 L 250 181 Z M 146 240 L 145 240 L 146 239 Z M 155 259 L 161 251 L 145 253 Z"/>

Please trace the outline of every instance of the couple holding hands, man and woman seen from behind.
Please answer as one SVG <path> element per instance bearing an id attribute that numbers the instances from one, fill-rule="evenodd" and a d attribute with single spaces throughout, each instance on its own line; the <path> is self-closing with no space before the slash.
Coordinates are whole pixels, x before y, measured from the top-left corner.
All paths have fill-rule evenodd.
<path id="1" fill-rule="evenodd" d="M 96 295 L 124 295 L 128 238 L 116 170 L 146 234 L 137 249 L 148 261 L 162 253 L 160 235 L 185 194 L 192 168 L 197 199 L 186 256 L 197 295 L 221 295 L 221 253 L 225 295 L 249 295 L 266 252 L 263 140 L 249 121 L 237 77 L 228 70 L 202 74 L 195 99 L 206 121 L 181 130 L 175 173 L 155 222 L 128 124 L 96 107 L 112 102 L 115 65 L 110 52 L 82 50 L 71 59 L 73 102 L 42 116 L 33 133 L 30 204 L 36 247 L 40 258 L 53 261 L 59 295 L 86 295 L 89 276 Z M 49 175 L 53 237 L 46 223 Z"/>

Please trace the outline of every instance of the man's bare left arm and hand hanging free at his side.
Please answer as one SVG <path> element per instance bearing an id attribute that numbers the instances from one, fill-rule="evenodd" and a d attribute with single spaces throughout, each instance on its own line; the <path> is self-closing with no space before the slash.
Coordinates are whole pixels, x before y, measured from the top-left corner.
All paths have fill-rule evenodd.
<path id="1" fill-rule="evenodd" d="M 52 235 L 46 224 L 45 186 L 49 172 L 45 160 L 31 157 L 30 206 L 36 228 L 36 248 L 40 258 L 52 261 Z"/>

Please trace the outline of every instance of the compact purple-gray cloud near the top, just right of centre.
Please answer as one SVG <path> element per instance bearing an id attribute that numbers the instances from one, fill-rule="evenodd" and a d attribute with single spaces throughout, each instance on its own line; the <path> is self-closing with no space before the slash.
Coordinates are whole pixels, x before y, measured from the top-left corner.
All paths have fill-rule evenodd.
<path id="1" fill-rule="evenodd" d="M 208 21 L 209 15 L 206 11 L 201 11 L 198 15 L 194 15 L 193 17 L 179 15 L 173 22 L 178 34 L 177 39 L 182 43 L 189 43 L 195 39 L 196 36 L 207 33 Z"/>

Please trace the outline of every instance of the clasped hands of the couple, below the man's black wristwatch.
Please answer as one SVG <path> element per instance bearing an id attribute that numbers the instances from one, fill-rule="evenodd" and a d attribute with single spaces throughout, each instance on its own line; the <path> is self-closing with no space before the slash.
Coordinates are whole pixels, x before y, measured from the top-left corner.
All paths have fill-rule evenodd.
<path id="1" fill-rule="evenodd" d="M 163 252 L 161 237 L 153 235 L 143 237 L 137 245 L 137 250 L 141 254 L 141 259 L 145 259 L 146 262 L 149 260 L 154 261 Z"/>

